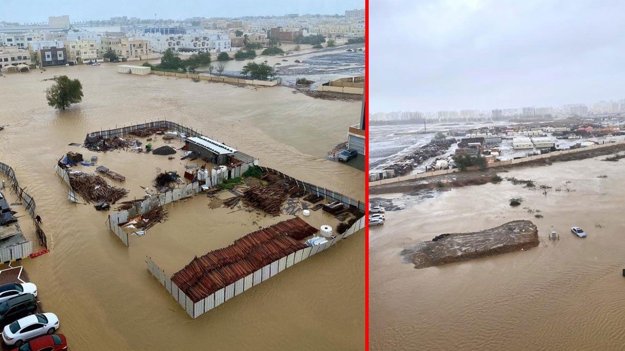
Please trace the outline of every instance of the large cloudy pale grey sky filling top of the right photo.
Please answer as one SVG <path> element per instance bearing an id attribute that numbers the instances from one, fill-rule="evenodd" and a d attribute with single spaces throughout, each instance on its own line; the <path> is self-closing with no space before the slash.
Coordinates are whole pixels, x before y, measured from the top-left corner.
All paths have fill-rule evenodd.
<path id="1" fill-rule="evenodd" d="M 625 97 L 625 1 L 369 1 L 371 112 Z"/>

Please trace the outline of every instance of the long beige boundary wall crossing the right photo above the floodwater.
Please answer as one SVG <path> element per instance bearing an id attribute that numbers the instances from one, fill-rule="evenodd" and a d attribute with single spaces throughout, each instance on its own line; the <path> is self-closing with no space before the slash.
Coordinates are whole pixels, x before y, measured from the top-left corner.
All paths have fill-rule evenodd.
<path id="1" fill-rule="evenodd" d="M 612 143 L 609 143 L 609 144 L 601 144 L 601 145 L 594 145 L 594 146 L 588 146 L 588 147 L 580 147 L 579 149 L 572 149 L 572 150 L 554 151 L 554 152 L 549 152 L 548 154 L 542 154 L 542 155 L 536 155 L 536 156 L 528 156 L 528 157 L 521 157 L 520 159 L 513 159 L 513 160 L 506 160 L 506 161 L 499 161 L 499 162 L 491 162 L 491 163 L 488 164 L 488 167 L 489 168 L 496 168 L 496 167 L 501 167 L 501 166 L 509 166 L 511 164 L 521 164 L 521 163 L 524 163 L 524 162 L 530 162 L 530 161 L 534 161 L 534 160 L 537 160 L 537 159 L 548 159 L 549 157 L 554 157 L 554 156 L 559 156 L 559 155 L 564 155 L 564 154 L 574 154 L 576 152 L 588 151 L 588 150 L 592 150 L 592 149 L 601 149 L 602 147 L 615 146 L 615 145 L 619 145 L 619 144 L 625 144 L 625 141 L 617 141 L 617 142 L 612 142 Z M 467 170 L 469 170 L 469 171 L 474 171 L 475 169 L 476 169 L 476 167 L 467 167 Z M 382 184 L 391 184 L 391 183 L 403 182 L 405 180 L 411 180 L 411 179 L 421 179 L 421 178 L 427 178 L 427 177 L 434 177 L 435 175 L 451 174 L 451 173 L 454 173 L 454 172 L 460 172 L 460 169 L 457 169 L 457 168 L 455 168 L 455 169 L 442 169 L 440 171 L 408 174 L 408 175 L 402 175 L 401 177 L 375 180 L 375 181 L 372 181 L 372 182 L 370 181 L 369 182 L 369 187 L 374 187 L 374 186 L 382 185 Z"/>

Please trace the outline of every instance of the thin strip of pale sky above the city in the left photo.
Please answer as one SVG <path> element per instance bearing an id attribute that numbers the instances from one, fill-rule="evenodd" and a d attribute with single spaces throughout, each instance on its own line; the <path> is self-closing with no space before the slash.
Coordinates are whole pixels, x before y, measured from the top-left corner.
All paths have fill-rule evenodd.
<path id="1" fill-rule="evenodd" d="M 68 14 L 71 21 L 109 19 L 114 16 L 164 19 L 188 17 L 281 16 L 299 14 L 344 14 L 364 8 L 364 0 L 34 0 L 13 6 L 4 4 L 0 21 L 47 22 L 48 16 Z"/>

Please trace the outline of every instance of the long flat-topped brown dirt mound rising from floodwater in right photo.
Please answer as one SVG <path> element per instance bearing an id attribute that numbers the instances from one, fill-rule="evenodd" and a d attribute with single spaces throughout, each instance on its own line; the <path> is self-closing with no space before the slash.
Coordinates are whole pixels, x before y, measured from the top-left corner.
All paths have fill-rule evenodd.
<path id="1" fill-rule="evenodd" d="M 491 229 L 473 233 L 437 235 L 432 241 L 402 250 L 414 268 L 506 254 L 538 246 L 538 229 L 529 220 L 513 220 Z"/>

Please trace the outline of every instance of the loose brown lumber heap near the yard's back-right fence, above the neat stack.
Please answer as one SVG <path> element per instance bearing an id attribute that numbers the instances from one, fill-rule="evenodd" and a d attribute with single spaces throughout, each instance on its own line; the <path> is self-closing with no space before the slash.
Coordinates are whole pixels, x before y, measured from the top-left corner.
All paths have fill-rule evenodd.
<path id="1" fill-rule="evenodd" d="M 273 172 L 261 175 L 260 179 L 267 182 L 267 185 L 249 187 L 243 193 L 243 200 L 246 204 L 261 209 L 267 214 L 281 214 L 284 201 L 291 194 L 298 194 L 302 190 L 301 187 Z"/>

